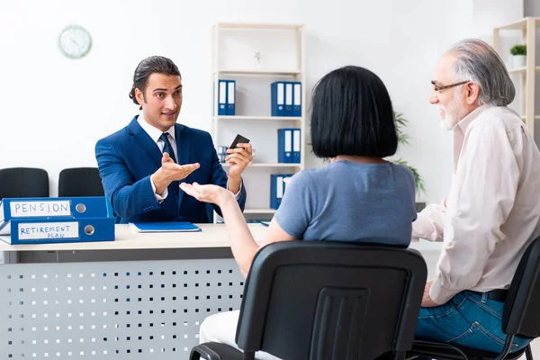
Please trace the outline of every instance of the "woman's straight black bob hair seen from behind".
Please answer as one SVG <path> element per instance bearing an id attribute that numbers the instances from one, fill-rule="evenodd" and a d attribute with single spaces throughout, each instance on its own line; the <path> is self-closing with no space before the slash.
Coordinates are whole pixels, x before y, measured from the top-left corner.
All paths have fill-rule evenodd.
<path id="1" fill-rule="evenodd" d="M 398 148 L 392 101 L 364 67 L 341 67 L 313 89 L 311 143 L 317 157 L 389 157 Z"/>

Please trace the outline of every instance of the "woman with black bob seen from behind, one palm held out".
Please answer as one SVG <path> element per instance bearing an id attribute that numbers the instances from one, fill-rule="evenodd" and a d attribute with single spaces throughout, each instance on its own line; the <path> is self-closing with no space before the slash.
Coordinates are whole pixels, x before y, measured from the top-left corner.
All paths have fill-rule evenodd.
<path id="1" fill-rule="evenodd" d="M 254 241 L 233 193 L 215 185 L 181 184 L 185 193 L 220 206 L 231 249 L 247 276 L 257 251 L 277 241 L 356 241 L 407 247 L 416 220 L 410 170 L 383 159 L 398 147 L 392 102 L 383 81 L 363 67 L 341 67 L 322 77 L 311 101 L 311 141 L 330 164 L 304 169 L 291 183 L 265 241 Z M 200 341 L 237 347 L 238 311 L 204 320 Z M 263 352 L 257 359 L 277 359 Z"/>

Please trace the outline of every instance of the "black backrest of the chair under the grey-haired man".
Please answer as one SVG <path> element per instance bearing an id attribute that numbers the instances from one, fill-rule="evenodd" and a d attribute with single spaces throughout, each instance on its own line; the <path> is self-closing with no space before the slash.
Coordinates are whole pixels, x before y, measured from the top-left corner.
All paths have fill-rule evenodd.
<path id="1" fill-rule="evenodd" d="M 540 238 L 521 257 L 504 305 L 502 329 L 524 338 L 540 336 Z"/>

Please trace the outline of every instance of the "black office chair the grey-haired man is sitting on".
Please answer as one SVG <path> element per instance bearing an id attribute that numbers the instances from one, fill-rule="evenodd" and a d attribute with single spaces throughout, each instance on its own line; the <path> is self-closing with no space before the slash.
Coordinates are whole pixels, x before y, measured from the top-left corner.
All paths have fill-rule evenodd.
<path id="1" fill-rule="evenodd" d="M 408 357 L 500 360 L 517 359 L 525 353 L 527 360 L 533 360 L 530 346 L 510 354 L 509 350 L 515 336 L 522 338 L 538 338 L 540 336 L 540 238 L 536 238 L 527 247 L 527 251 L 519 262 L 504 305 L 502 330 L 507 334 L 507 339 L 500 354 L 471 347 L 417 340 L 408 353 Z"/>

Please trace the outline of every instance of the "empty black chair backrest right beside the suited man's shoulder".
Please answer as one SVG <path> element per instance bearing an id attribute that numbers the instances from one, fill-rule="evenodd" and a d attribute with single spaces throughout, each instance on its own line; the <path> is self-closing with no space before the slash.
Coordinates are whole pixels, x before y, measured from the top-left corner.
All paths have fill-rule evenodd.
<path id="1" fill-rule="evenodd" d="M 104 196 L 97 167 L 74 167 L 60 171 L 58 196 Z"/>

